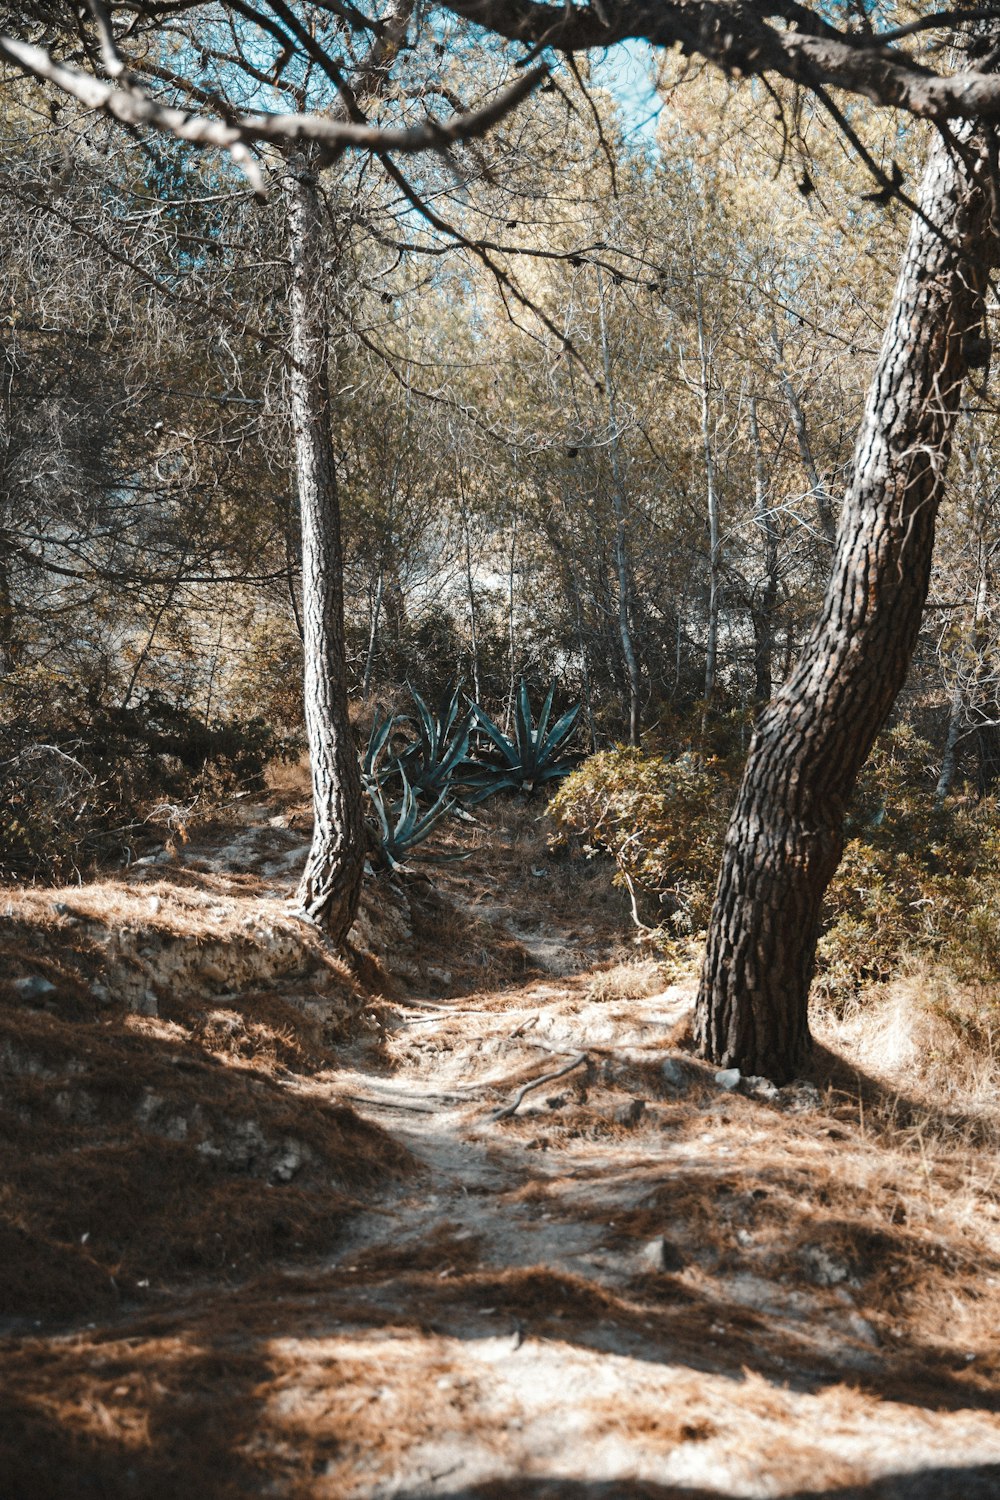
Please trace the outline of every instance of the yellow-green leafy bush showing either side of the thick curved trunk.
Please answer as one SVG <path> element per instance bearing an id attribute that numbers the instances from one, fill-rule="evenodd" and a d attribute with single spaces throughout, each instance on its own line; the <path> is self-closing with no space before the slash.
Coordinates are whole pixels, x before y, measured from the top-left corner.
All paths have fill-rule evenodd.
<path id="1" fill-rule="evenodd" d="M 865 765 L 844 856 L 826 894 L 817 984 L 832 1000 L 930 957 L 961 980 L 1000 981 L 1000 824 L 994 800 L 939 807 L 933 747 L 892 729 Z M 735 772 L 729 762 L 619 747 L 591 756 L 550 802 L 555 842 L 615 861 L 664 942 L 711 915 Z"/>

